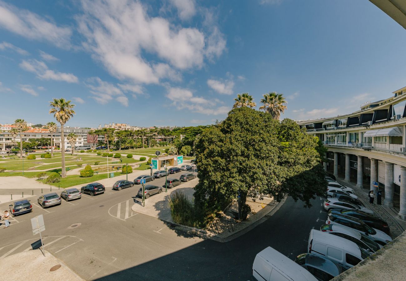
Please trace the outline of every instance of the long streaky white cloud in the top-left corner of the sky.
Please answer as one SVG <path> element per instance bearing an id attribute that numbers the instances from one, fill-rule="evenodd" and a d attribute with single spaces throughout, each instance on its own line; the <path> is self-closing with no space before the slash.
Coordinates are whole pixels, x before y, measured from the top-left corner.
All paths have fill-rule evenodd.
<path id="1" fill-rule="evenodd" d="M 70 47 L 71 29 L 56 26 L 36 13 L 6 4 L 0 0 L 0 28 L 28 39 L 48 41 L 60 48 Z"/>

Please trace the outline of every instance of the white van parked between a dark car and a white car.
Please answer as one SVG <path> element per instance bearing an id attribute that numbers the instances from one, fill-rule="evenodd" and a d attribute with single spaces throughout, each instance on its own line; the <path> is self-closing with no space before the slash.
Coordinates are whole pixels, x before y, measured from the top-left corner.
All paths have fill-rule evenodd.
<path id="1" fill-rule="evenodd" d="M 330 259 L 344 270 L 352 268 L 369 256 L 354 242 L 315 229 L 310 231 L 308 246 L 309 253 Z"/>

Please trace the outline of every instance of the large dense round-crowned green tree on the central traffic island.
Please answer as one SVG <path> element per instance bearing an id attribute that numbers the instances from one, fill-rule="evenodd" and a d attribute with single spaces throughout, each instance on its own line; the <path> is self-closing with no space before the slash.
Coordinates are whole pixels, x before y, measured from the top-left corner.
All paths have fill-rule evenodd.
<path id="1" fill-rule="evenodd" d="M 195 203 L 217 211 L 239 198 L 242 219 L 250 211 L 247 197 L 281 201 L 289 195 L 310 206 L 326 187 L 318 146 L 290 119 L 280 123 L 270 114 L 235 108 L 196 141 Z"/>

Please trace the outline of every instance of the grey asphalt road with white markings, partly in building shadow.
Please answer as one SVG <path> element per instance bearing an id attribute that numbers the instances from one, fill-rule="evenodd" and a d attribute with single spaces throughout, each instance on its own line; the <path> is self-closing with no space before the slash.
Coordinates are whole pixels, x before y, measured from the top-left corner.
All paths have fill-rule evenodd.
<path id="1" fill-rule="evenodd" d="M 164 178 L 152 183 L 162 185 Z M 30 218 L 43 214 L 45 249 L 86 280 L 249 280 L 259 251 L 272 246 L 294 259 L 306 252 L 310 229 L 320 228 L 327 217 L 320 198 L 310 209 L 289 198 L 261 225 L 221 243 L 132 212 L 139 187 L 106 187 L 105 194 L 84 195 L 45 210 L 35 203 L 32 213 L 15 217 L 7 229 L 0 227 L 0 258 L 38 246 Z M 0 204 L 0 210 L 8 205 Z"/>

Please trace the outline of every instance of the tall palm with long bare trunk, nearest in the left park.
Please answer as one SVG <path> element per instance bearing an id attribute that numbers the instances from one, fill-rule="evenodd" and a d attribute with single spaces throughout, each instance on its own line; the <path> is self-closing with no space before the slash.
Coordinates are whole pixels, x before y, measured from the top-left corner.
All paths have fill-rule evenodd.
<path id="1" fill-rule="evenodd" d="M 60 123 L 60 152 L 62 156 L 62 177 L 66 177 L 66 170 L 65 170 L 65 137 L 63 136 L 63 125 L 69 119 L 73 117 L 73 114 L 76 114 L 76 112 L 73 110 L 75 107 L 74 104 L 71 104 L 70 100 L 66 100 L 63 97 L 60 99 L 53 99 L 52 102 L 50 102 L 50 114 L 54 113 L 54 117 L 56 118 L 56 121 Z"/>

